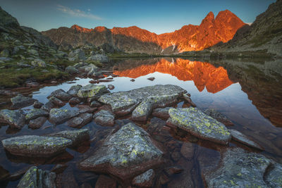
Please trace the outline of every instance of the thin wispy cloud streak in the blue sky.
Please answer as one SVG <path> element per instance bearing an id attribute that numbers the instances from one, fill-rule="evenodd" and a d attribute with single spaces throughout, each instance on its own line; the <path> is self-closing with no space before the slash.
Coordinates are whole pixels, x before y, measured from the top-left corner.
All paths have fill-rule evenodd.
<path id="1" fill-rule="evenodd" d="M 85 11 L 80 11 L 79 9 L 71 9 L 68 8 L 67 6 L 57 5 L 56 9 L 58 11 L 61 11 L 62 13 L 73 15 L 75 17 L 90 18 L 92 20 L 102 20 L 102 18 L 92 13 L 85 13 Z"/>

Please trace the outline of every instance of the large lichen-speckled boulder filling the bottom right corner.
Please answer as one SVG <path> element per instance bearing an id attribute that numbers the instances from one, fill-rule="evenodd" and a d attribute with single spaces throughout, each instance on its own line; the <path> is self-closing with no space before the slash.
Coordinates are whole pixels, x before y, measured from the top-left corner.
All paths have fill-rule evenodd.
<path id="1" fill-rule="evenodd" d="M 240 148 L 227 149 L 216 170 L 204 174 L 207 187 L 281 187 L 282 165 Z"/>

